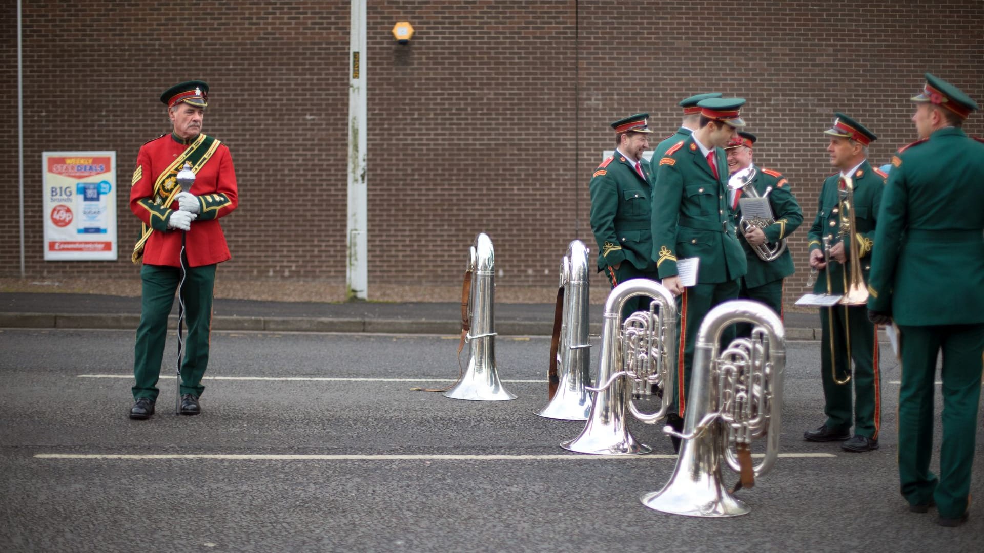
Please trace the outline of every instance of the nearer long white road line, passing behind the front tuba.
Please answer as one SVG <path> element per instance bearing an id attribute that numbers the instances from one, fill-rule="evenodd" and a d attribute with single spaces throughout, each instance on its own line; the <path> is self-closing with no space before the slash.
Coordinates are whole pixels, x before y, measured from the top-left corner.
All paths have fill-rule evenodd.
<path id="1" fill-rule="evenodd" d="M 752 457 L 761 458 L 763 454 Z M 835 458 L 833 454 L 779 454 L 787 459 Z M 35 454 L 34 459 L 57 460 L 212 460 L 212 461 L 553 461 L 553 460 L 616 460 L 616 459 L 677 459 L 675 455 L 224 455 L 224 454 Z"/>

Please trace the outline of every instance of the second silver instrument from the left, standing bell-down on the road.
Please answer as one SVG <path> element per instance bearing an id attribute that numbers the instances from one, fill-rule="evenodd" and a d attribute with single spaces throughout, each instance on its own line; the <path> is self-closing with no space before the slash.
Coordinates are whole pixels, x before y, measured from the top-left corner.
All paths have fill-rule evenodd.
<path id="1" fill-rule="evenodd" d="M 557 391 L 547 405 L 536 411 L 546 418 L 587 420 L 591 409 L 591 364 L 588 356 L 588 297 L 590 273 L 588 249 L 581 240 L 574 240 L 560 264 L 560 287 L 564 288 L 564 309 L 561 317 L 557 364 Z"/>

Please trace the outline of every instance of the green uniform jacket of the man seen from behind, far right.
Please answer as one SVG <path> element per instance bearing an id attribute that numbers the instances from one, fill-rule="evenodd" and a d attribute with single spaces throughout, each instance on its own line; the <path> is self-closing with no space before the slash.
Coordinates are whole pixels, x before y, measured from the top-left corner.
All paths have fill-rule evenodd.
<path id="1" fill-rule="evenodd" d="M 892 157 L 868 308 L 905 326 L 984 323 L 984 144 L 953 127 Z"/>

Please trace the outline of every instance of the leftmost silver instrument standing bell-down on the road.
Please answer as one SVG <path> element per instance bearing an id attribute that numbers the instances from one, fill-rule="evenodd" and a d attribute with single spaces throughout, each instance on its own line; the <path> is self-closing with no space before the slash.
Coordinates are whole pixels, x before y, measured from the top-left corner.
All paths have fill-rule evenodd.
<path id="1" fill-rule="evenodd" d="M 468 365 L 458 381 L 444 396 L 476 401 L 505 401 L 516 399 L 499 381 L 495 366 L 495 337 L 492 304 L 495 292 L 495 256 L 492 240 L 484 232 L 475 237 L 468 252 L 468 268 L 472 270 L 468 296 Z"/>

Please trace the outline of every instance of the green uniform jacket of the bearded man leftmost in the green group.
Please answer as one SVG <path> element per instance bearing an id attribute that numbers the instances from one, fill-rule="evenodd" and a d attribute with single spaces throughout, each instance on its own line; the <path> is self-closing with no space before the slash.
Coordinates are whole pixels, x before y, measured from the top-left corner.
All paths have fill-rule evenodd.
<path id="1" fill-rule="evenodd" d="M 591 230 L 598 244 L 598 271 L 628 260 L 640 271 L 651 271 L 649 232 L 651 186 L 616 150 L 591 176 Z"/>

